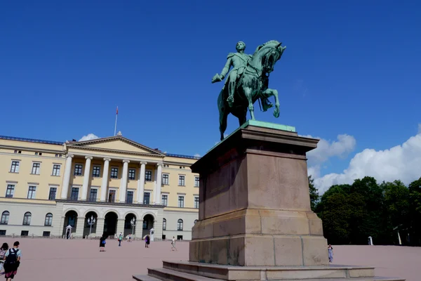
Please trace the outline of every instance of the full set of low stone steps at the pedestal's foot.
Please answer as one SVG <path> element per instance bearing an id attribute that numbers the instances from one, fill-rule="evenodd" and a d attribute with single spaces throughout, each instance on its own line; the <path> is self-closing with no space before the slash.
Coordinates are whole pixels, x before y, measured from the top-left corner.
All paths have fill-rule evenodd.
<path id="1" fill-rule="evenodd" d="M 148 275 L 133 278 L 138 281 L 405 281 L 375 277 L 374 268 L 365 266 L 220 266 L 190 261 L 163 261 L 163 268 L 148 268 Z"/>

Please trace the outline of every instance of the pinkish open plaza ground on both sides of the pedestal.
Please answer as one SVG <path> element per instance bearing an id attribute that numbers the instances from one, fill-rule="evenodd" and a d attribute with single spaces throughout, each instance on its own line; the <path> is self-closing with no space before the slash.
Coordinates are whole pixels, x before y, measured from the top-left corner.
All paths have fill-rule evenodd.
<path id="1" fill-rule="evenodd" d="M 22 249 L 17 281 L 131 281 L 133 274 L 147 273 L 148 267 L 160 268 L 163 259 L 187 260 L 189 249 L 188 242 L 178 242 L 178 251 L 171 251 L 171 241 L 152 242 L 145 249 L 140 241 L 118 247 L 116 240 L 107 240 L 107 251 L 102 253 L 98 240 L 2 238 L 0 242 L 11 245 L 15 240 Z M 376 275 L 419 280 L 419 247 L 333 246 L 333 250 L 336 264 L 375 266 Z"/>

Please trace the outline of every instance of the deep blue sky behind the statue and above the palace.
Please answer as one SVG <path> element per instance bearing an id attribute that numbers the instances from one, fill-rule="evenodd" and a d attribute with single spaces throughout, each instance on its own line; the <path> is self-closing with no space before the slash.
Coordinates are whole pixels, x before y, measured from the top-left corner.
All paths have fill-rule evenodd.
<path id="1" fill-rule="evenodd" d="M 421 4 L 411 2 L 3 1 L 0 134 L 111 136 L 118 105 L 123 136 L 203 155 L 219 139 L 222 83 L 210 79 L 237 41 L 253 53 L 276 39 L 287 46 L 269 81 L 281 115 L 256 118 L 330 143 L 352 136 L 322 163 L 321 175 L 340 173 L 356 152 L 417 134 Z M 227 133 L 238 126 L 228 122 Z"/>

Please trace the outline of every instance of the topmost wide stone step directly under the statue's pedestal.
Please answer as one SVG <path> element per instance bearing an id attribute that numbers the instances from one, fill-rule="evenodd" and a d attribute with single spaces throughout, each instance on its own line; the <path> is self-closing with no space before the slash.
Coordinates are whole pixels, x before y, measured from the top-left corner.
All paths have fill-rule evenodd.
<path id="1" fill-rule="evenodd" d="M 221 280 L 317 280 L 374 277 L 367 266 L 222 266 L 190 261 L 163 261 L 163 268 Z"/>

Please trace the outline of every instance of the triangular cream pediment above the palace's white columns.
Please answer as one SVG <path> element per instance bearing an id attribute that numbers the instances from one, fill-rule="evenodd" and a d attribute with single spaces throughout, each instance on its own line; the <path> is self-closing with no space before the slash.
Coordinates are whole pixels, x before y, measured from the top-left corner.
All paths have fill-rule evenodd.
<path id="1" fill-rule="evenodd" d="M 122 136 L 97 138 L 91 141 L 79 141 L 69 143 L 68 146 L 69 148 L 81 148 L 84 150 L 102 150 L 133 153 L 138 155 L 164 156 L 163 153 L 159 152 L 158 150 L 148 148 L 145 145 L 141 145 L 140 143 L 136 143 Z"/>

